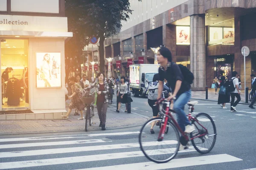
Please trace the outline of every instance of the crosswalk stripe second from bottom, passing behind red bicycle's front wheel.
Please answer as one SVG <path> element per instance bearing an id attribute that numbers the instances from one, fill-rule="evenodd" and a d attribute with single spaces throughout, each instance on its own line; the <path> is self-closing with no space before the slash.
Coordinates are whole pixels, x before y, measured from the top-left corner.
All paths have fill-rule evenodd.
<path id="1" fill-rule="evenodd" d="M 63 148 L 64 149 L 64 148 Z M 155 151 L 154 154 L 150 155 L 162 155 L 174 153 L 176 148 L 169 149 L 159 149 L 159 150 L 147 150 L 148 153 Z M 184 150 L 183 152 L 192 152 L 193 150 Z M 9 169 L 12 168 L 25 168 L 25 167 L 38 167 L 38 166 L 47 166 L 47 165 L 56 165 L 56 164 L 71 164 L 79 162 L 89 162 L 89 161 L 101 161 L 101 160 L 110 160 L 110 159 L 123 159 L 123 158 L 133 158 L 144 156 L 142 151 L 134 152 L 121 152 L 121 153 L 108 153 L 108 154 L 99 154 L 99 155 L 89 155 L 89 156 L 75 156 L 75 157 L 65 157 L 65 158 L 56 158 L 56 159 L 41 159 L 41 160 L 32 160 L 32 161 L 15 161 L 15 162 L 4 162 L 0 163 L 0 169 Z"/>

